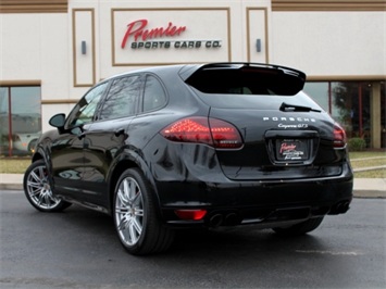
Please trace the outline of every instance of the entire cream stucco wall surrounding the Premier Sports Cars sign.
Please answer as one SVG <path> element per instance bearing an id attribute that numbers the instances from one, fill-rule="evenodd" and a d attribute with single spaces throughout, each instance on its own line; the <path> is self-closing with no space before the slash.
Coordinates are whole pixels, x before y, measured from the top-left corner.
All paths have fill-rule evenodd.
<path id="1" fill-rule="evenodd" d="M 141 64 L 250 60 L 292 66 L 322 78 L 386 75 L 385 11 L 279 12 L 272 11 L 271 0 L 71 0 L 67 13 L 0 13 L 0 81 L 40 80 L 43 130 L 50 128 L 49 117 L 67 113 L 94 79 L 141 67 L 113 64 L 114 53 L 120 58 L 133 53 L 112 48 L 112 32 L 122 38 L 123 25 L 117 22 L 121 27 L 113 27 L 114 9 L 132 10 L 127 22 L 145 17 L 159 27 L 172 21 L 189 28 L 185 38 L 220 37 L 224 43 L 213 58 L 209 55 L 213 51 L 206 49 L 187 55 L 173 51 L 175 59 L 161 49 L 142 51 L 135 56 Z M 260 52 L 257 39 L 262 41 Z M 80 40 L 87 40 L 85 55 L 79 53 Z"/>

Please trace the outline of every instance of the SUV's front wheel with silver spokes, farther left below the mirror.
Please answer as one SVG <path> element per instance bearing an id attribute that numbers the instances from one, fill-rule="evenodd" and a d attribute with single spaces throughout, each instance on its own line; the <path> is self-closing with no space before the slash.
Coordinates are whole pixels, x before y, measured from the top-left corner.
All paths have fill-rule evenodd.
<path id="1" fill-rule="evenodd" d="M 43 160 L 28 166 L 23 187 L 29 203 L 40 212 L 60 212 L 71 205 L 53 194 Z"/>

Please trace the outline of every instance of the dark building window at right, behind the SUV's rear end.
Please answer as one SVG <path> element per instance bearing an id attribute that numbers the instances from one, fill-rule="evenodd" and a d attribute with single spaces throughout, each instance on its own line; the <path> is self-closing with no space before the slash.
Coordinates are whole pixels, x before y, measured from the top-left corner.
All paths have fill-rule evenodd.
<path id="1" fill-rule="evenodd" d="M 384 134 L 385 128 L 385 84 L 377 83 L 381 99 L 381 120 L 372 122 L 371 101 L 373 98 L 372 86 L 375 81 L 312 81 L 307 83 L 304 91 L 317 102 L 332 117 L 343 125 L 347 137 L 360 137 L 366 141 L 368 148 L 372 147 L 374 138 L 383 139 L 384 136 L 372 136 L 372 131 Z M 377 129 L 372 129 L 372 128 Z M 381 129 L 379 129 L 381 128 Z M 382 141 L 382 147 L 385 147 Z"/>

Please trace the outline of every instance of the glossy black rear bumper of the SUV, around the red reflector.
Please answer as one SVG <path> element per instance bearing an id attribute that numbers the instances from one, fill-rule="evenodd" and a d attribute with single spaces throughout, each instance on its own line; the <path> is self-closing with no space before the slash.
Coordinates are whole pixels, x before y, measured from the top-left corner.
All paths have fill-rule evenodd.
<path id="1" fill-rule="evenodd" d="M 286 181 L 167 183 L 161 213 L 173 227 L 256 224 L 262 228 L 343 214 L 352 200 L 352 174 Z M 199 221 L 179 219 L 175 210 L 204 209 Z"/>

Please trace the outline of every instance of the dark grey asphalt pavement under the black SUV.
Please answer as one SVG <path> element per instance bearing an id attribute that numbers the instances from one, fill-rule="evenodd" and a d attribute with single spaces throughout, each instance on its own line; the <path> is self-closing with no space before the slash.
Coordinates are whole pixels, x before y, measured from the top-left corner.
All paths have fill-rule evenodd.
<path id="1" fill-rule="evenodd" d="M 127 254 L 112 219 L 34 210 L 0 191 L 1 288 L 385 288 L 386 200 L 356 198 L 300 238 L 253 227 L 180 231 L 159 255 Z"/>

